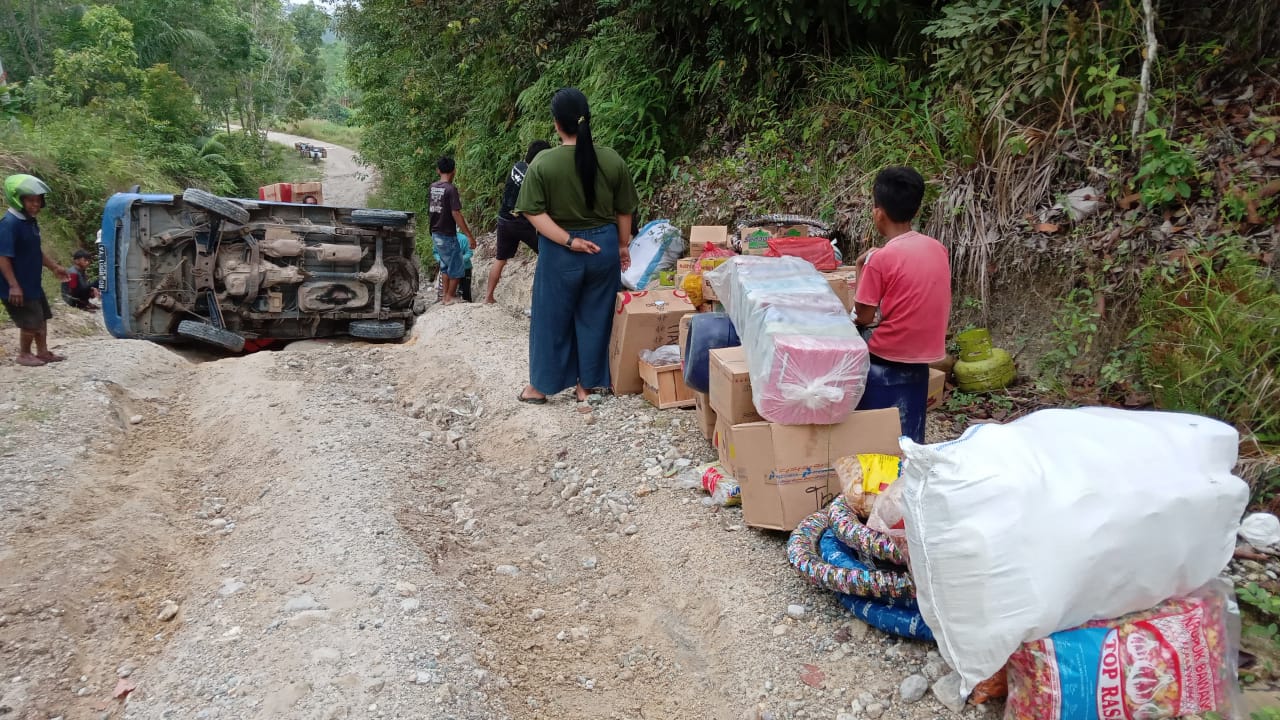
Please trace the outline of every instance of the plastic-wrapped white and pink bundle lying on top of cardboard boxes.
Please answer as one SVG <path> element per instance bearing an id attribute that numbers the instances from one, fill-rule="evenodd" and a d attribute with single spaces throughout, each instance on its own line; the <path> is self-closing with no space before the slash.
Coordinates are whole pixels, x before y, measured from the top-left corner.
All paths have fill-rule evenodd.
<path id="1" fill-rule="evenodd" d="M 755 409 L 831 425 L 858 407 L 870 357 L 831 284 L 799 258 L 733 258 L 707 273 L 746 350 Z"/>

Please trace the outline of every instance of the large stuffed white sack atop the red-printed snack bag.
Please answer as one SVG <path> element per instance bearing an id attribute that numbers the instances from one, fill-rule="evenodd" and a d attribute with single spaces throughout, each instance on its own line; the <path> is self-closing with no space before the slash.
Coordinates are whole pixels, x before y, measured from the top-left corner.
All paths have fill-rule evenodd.
<path id="1" fill-rule="evenodd" d="M 1198 415 L 1101 407 L 902 438 L 920 612 L 961 691 L 1023 642 L 1217 577 L 1249 495 L 1231 474 L 1238 441 Z"/>

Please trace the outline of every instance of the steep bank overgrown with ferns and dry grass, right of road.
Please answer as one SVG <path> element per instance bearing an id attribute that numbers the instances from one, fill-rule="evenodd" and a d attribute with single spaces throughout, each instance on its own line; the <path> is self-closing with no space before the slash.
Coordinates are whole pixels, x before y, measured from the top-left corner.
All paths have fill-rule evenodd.
<path id="1" fill-rule="evenodd" d="M 1280 442 L 1271 5 L 362 0 L 338 27 L 388 205 L 424 209 L 451 154 L 471 222 L 492 225 L 564 85 L 591 100 L 646 218 L 810 214 L 851 256 L 874 237 L 872 176 L 911 164 L 929 178 L 920 223 L 974 304 L 959 313 L 1027 338 L 1038 392 L 1224 418 L 1266 456 Z M 1082 209 L 1068 193 L 1087 187 Z M 1230 259 L 1213 250 L 1231 243 Z"/>

